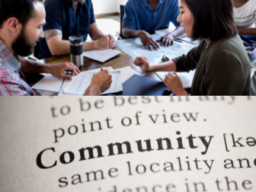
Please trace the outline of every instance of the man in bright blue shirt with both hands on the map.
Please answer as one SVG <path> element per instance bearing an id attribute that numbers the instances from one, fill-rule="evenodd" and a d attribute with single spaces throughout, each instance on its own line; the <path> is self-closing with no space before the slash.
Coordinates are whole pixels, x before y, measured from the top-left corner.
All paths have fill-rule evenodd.
<path id="1" fill-rule="evenodd" d="M 157 50 L 160 47 L 149 33 L 168 28 L 171 21 L 176 29 L 157 40 L 162 41 L 161 46 L 169 47 L 174 38 L 183 34 L 183 27 L 177 22 L 178 5 L 178 0 L 129 0 L 124 8 L 123 36 L 140 37 L 143 49 L 148 46 L 151 51 L 152 47 Z"/>

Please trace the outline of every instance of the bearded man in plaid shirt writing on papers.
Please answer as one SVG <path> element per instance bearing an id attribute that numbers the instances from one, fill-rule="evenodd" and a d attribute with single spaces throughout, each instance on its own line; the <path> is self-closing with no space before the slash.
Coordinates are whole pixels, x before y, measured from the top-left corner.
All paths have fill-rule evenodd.
<path id="1" fill-rule="evenodd" d="M 64 71 L 72 70 L 76 75 L 80 73 L 73 63 L 47 65 L 21 57 L 32 54 L 39 39 L 44 37 L 45 11 L 42 2 L 0 1 L 0 95 L 35 95 L 24 81 L 23 73 L 50 73 L 69 80 L 72 77 Z M 107 70 L 94 74 L 85 95 L 99 95 L 107 90 L 111 77 Z"/>

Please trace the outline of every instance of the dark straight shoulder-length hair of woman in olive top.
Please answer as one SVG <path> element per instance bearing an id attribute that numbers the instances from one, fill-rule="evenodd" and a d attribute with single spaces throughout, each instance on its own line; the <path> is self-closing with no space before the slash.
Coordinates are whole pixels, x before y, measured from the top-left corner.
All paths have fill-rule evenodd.
<path id="1" fill-rule="evenodd" d="M 231 0 L 182 0 L 194 16 L 193 40 L 217 41 L 238 34 Z"/>

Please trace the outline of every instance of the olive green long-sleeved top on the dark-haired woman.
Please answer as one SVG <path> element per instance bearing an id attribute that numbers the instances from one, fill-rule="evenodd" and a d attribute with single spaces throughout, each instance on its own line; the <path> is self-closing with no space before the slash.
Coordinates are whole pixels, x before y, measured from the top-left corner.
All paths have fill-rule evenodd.
<path id="1" fill-rule="evenodd" d="M 251 62 L 239 35 L 205 40 L 187 55 L 173 59 L 177 72 L 196 69 L 191 95 L 249 95 Z"/>

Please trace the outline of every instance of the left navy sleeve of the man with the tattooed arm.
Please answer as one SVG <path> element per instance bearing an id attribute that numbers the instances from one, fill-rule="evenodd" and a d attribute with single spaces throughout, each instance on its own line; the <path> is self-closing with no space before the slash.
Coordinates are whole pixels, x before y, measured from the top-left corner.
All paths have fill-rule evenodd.
<path id="1" fill-rule="evenodd" d="M 46 25 L 43 30 L 59 29 L 62 30 L 62 10 L 59 1 L 47 0 L 44 3 L 46 12 Z"/>

